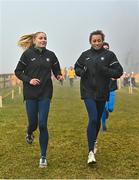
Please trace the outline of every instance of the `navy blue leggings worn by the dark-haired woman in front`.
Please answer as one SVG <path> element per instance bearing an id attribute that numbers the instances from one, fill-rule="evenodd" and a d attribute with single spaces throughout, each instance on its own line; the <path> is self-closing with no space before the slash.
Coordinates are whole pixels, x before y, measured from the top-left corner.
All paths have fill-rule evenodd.
<path id="1" fill-rule="evenodd" d="M 105 106 L 105 101 L 95 101 L 93 99 L 84 99 L 84 103 L 88 112 L 87 138 L 89 151 L 94 150 L 94 144 L 97 140 L 101 125 L 101 116 Z"/>

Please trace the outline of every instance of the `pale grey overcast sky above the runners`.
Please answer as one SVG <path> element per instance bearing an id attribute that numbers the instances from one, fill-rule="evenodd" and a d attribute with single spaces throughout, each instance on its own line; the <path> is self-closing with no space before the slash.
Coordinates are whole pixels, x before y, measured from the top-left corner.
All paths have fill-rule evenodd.
<path id="1" fill-rule="evenodd" d="M 24 34 L 46 32 L 47 48 L 69 67 L 97 29 L 125 71 L 139 72 L 139 0 L 0 0 L 0 74 L 13 73 Z"/>

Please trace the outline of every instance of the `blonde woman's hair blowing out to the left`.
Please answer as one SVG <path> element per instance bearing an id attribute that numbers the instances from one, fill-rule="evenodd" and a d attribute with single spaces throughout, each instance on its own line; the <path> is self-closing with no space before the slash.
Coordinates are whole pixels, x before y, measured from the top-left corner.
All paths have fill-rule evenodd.
<path id="1" fill-rule="evenodd" d="M 33 40 L 40 33 L 44 33 L 44 32 L 36 32 L 34 34 L 26 34 L 26 35 L 21 36 L 19 41 L 17 42 L 17 45 L 23 49 L 28 49 L 28 48 L 32 47 L 33 46 Z"/>

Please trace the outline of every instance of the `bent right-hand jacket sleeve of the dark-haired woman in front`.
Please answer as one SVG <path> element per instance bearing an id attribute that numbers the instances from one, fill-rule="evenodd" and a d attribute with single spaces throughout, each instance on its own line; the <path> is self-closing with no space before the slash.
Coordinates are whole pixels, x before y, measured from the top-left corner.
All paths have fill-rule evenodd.
<path id="1" fill-rule="evenodd" d="M 108 67 L 102 65 L 101 63 L 99 66 L 101 73 L 105 77 L 118 79 L 123 74 L 123 68 L 114 53 L 110 56 L 110 63 Z"/>

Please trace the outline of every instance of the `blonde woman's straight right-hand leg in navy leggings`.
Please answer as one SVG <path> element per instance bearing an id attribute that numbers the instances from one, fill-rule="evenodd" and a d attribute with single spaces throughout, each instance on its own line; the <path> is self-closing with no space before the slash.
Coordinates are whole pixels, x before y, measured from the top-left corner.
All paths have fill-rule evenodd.
<path id="1" fill-rule="evenodd" d="M 46 157 L 48 145 L 48 129 L 47 120 L 50 108 L 50 99 L 43 99 L 39 101 L 39 143 L 41 148 L 41 156 Z"/>

